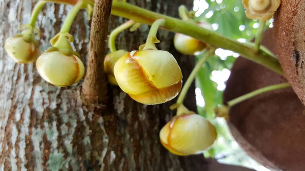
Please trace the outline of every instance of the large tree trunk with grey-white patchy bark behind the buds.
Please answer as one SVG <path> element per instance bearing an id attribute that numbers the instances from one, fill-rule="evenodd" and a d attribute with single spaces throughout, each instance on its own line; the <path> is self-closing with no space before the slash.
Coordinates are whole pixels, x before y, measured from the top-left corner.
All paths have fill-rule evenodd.
<path id="1" fill-rule="evenodd" d="M 180 4 L 190 9 L 193 4 L 186 0 L 130 3 L 175 17 Z M 0 1 L 1 170 L 209 170 L 202 155 L 179 158 L 159 142 L 160 129 L 174 114 L 169 110 L 174 100 L 157 106 L 141 105 L 118 87 L 109 86 L 109 104 L 89 109 L 80 98 L 81 83 L 66 88 L 50 85 L 41 79 L 35 64 L 17 64 L 10 59 L 4 51 L 4 42 L 19 32 L 19 25 L 28 23 L 34 5 L 30 0 Z M 71 6 L 51 3 L 44 7 L 37 22 L 42 51 L 50 46 L 49 40 L 59 32 L 70 9 Z M 110 30 L 124 21 L 111 16 Z M 82 11 L 70 31 L 84 63 L 88 23 L 87 13 Z M 137 49 L 144 43 L 148 29 L 149 26 L 142 25 L 135 32 L 121 33 L 117 38 L 118 49 Z M 182 56 L 174 50 L 173 35 L 160 30 L 161 43 L 157 47 L 176 57 L 185 81 L 192 71 L 194 57 Z M 194 86 L 186 106 L 196 110 Z"/>

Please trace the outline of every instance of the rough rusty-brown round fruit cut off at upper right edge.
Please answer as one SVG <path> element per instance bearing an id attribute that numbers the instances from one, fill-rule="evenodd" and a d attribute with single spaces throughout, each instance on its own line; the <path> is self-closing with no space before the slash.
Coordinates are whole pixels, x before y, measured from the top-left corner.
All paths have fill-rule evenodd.
<path id="1" fill-rule="evenodd" d="M 276 54 L 285 77 L 305 105 L 305 3 L 282 0 L 275 14 Z"/>

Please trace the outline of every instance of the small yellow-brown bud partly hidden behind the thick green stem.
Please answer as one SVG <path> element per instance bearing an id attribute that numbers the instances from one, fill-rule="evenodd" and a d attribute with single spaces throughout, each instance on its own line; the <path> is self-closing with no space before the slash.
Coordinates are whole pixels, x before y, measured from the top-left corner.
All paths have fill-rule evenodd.
<path id="1" fill-rule="evenodd" d="M 213 30 L 209 23 L 201 22 L 198 25 L 203 28 Z M 178 52 L 185 55 L 194 55 L 195 53 L 199 53 L 206 48 L 206 44 L 204 42 L 181 33 L 175 33 L 174 46 Z"/>

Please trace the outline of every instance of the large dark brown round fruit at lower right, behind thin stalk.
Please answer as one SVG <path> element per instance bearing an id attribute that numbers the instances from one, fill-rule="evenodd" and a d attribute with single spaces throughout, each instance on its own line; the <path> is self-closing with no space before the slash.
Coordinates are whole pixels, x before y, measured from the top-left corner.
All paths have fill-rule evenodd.
<path id="1" fill-rule="evenodd" d="M 275 52 L 271 29 L 262 45 Z M 262 87 L 287 82 L 262 65 L 239 57 L 224 92 L 224 102 Z M 266 92 L 230 109 L 229 127 L 239 145 L 262 165 L 285 171 L 305 168 L 305 107 L 291 87 Z"/>

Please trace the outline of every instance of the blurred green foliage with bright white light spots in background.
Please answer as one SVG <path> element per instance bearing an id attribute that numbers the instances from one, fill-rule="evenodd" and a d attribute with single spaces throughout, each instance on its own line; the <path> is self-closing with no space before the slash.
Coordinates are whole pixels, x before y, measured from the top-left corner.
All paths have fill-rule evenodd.
<path id="1" fill-rule="evenodd" d="M 241 0 L 195 0 L 193 10 L 196 12 L 195 20 L 211 23 L 216 32 L 239 42 L 251 41 L 259 27 L 258 21 L 246 17 Z M 267 21 L 266 28 L 271 28 L 272 22 L 273 19 Z M 217 142 L 204 153 L 204 156 L 216 158 L 221 163 L 246 166 L 258 171 L 269 171 L 239 147 L 223 118 L 213 119 L 215 118 L 214 108 L 222 104 L 226 81 L 238 56 L 238 53 L 217 49 L 215 57 L 208 59 L 196 78 L 198 113 L 212 119 L 219 133 Z M 196 56 L 197 60 L 200 57 L 202 55 Z"/>

